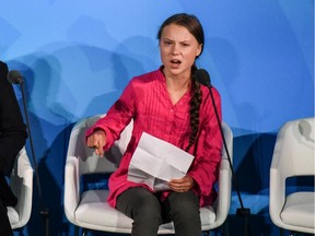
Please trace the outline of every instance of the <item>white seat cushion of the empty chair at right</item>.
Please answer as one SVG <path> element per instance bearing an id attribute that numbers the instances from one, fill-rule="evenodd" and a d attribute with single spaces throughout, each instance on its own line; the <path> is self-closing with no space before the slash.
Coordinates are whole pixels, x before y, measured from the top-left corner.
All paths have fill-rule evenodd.
<path id="1" fill-rule="evenodd" d="M 315 228 L 314 201 L 314 192 L 294 192 L 289 194 L 280 217 L 288 225 Z"/>

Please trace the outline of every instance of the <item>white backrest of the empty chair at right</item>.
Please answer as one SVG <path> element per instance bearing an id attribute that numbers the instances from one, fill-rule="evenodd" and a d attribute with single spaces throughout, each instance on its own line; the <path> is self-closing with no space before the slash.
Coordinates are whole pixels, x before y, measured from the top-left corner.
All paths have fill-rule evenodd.
<path id="1" fill-rule="evenodd" d="M 284 123 L 277 137 L 272 166 L 283 177 L 315 175 L 315 118 Z"/>

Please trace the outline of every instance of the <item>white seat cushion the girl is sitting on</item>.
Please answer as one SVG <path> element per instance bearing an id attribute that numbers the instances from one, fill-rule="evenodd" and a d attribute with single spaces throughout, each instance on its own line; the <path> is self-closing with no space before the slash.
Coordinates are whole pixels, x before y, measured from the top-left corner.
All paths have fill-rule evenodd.
<path id="1" fill-rule="evenodd" d="M 75 220 L 79 226 L 113 233 L 130 234 L 132 220 L 124 213 L 109 206 L 107 203 L 108 190 L 89 190 L 83 192 L 81 202 L 75 211 Z M 200 209 L 202 229 L 208 229 L 215 221 L 212 206 Z M 172 234 L 173 223 L 160 226 L 159 234 Z"/>

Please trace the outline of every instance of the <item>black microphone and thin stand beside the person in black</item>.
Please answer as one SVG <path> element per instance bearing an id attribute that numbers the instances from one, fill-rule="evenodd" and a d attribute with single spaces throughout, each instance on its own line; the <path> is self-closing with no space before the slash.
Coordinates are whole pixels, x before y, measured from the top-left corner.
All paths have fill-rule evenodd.
<path id="1" fill-rule="evenodd" d="M 24 107 L 24 114 L 26 118 L 26 123 L 27 123 L 27 131 L 28 131 L 28 138 L 30 138 L 30 144 L 31 144 L 31 151 L 32 151 L 32 157 L 33 157 L 33 163 L 34 163 L 34 168 L 35 168 L 35 177 L 36 177 L 36 184 L 38 188 L 38 196 L 40 200 L 40 212 L 39 214 L 43 215 L 45 220 L 45 231 L 46 231 L 46 236 L 49 235 L 49 209 L 44 208 L 44 200 L 42 196 L 42 188 L 40 188 L 40 181 L 39 181 L 39 175 L 38 175 L 38 169 L 37 169 L 37 162 L 35 158 L 35 152 L 34 152 L 34 145 L 33 145 L 33 138 L 31 133 L 31 125 L 30 125 L 30 119 L 28 119 L 28 113 L 27 113 L 27 106 L 26 106 L 26 99 L 25 99 L 25 92 L 24 92 L 24 80 L 20 71 L 18 70 L 11 70 L 9 71 L 7 79 L 10 83 L 12 84 L 20 84 L 21 91 L 22 91 L 22 98 L 23 98 L 23 107 Z"/>

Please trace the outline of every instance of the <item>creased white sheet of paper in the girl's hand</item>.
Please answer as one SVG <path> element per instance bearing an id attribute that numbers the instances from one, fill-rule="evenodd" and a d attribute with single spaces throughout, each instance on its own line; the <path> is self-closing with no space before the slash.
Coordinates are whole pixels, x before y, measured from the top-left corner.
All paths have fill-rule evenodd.
<path id="1" fill-rule="evenodd" d="M 171 179 L 186 175 L 192 160 L 184 150 L 143 132 L 129 165 L 128 180 L 166 190 Z"/>

